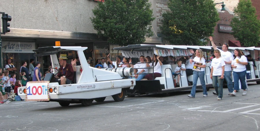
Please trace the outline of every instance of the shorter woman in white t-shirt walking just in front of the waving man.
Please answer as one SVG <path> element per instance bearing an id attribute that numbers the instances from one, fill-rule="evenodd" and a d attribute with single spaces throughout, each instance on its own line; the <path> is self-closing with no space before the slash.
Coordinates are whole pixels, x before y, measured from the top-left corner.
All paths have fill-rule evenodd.
<path id="1" fill-rule="evenodd" d="M 221 100 L 223 96 L 223 79 L 225 72 L 225 61 L 221 58 L 220 51 L 214 50 L 215 58 L 211 62 L 210 78 L 212 79 L 212 85 L 215 88 L 214 95 L 217 95 L 217 100 Z"/>

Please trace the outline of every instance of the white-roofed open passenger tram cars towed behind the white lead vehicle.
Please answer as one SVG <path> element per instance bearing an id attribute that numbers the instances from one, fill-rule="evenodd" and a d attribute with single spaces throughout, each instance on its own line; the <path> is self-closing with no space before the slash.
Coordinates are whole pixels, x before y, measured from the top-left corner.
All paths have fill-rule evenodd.
<path id="1" fill-rule="evenodd" d="M 220 48 L 221 47 L 217 47 Z M 254 50 L 259 50 L 260 48 L 254 48 L 254 47 L 248 47 L 248 48 L 243 48 L 243 47 L 229 47 L 229 51 L 234 55 L 234 50 L 236 48 L 239 48 L 242 50 L 245 55 L 252 54 L 254 56 Z M 147 45 L 147 44 L 137 44 L 137 45 L 128 45 L 125 47 L 117 47 L 114 48 L 114 50 L 118 50 L 122 52 L 122 55 L 124 57 L 131 57 L 131 58 L 139 58 L 141 55 L 144 57 L 151 57 L 153 58 L 153 54 L 158 55 L 158 56 L 172 56 L 172 57 L 184 57 L 184 56 L 191 56 L 192 54 L 190 53 L 189 49 L 197 50 L 197 49 L 202 49 L 202 51 L 206 54 L 206 52 L 213 52 L 213 47 L 211 46 L 178 46 L 178 45 Z M 211 53 L 213 54 L 213 53 Z M 184 90 L 190 90 L 192 89 L 192 81 L 193 81 L 193 75 L 186 76 L 186 71 L 182 71 L 182 76 L 180 77 L 180 84 L 179 86 L 176 86 L 177 77 L 173 77 L 173 71 L 177 67 L 177 64 L 175 64 L 177 61 L 173 61 L 173 63 L 169 63 L 168 65 L 162 65 L 161 66 L 161 71 L 162 71 L 162 76 L 161 77 L 156 77 L 153 78 L 153 80 L 144 80 L 144 81 L 136 81 L 136 85 L 134 86 L 133 89 L 127 89 L 127 96 L 128 97 L 133 97 L 133 96 L 138 96 L 138 95 L 143 95 L 143 94 L 163 94 L 164 96 L 169 96 L 171 92 L 175 91 L 184 91 Z M 151 63 L 151 62 L 149 62 Z M 132 63 L 136 64 L 136 63 Z M 249 67 L 248 72 L 250 77 L 246 78 L 247 82 L 257 82 L 259 84 L 260 82 L 260 61 L 256 61 L 255 64 L 257 65 L 257 69 L 254 70 L 253 68 L 253 63 L 249 62 Z M 182 64 L 182 66 L 185 66 L 185 64 Z M 135 68 L 134 68 L 135 69 Z M 140 68 L 138 68 L 140 69 Z M 212 87 L 212 80 L 210 79 L 210 71 L 211 71 L 211 66 L 210 62 L 206 63 L 206 68 L 205 68 L 205 76 L 204 80 L 206 83 L 206 89 L 207 91 Z M 153 66 L 148 69 L 148 73 L 144 74 L 153 74 L 154 73 L 154 68 Z M 233 80 L 233 75 L 232 75 L 232 80 Z M 189 82 L 188 82 L 189 81 Z M 189 85 L 188 83 L 191 83 Z M 202 85 L 200 83 L 200 79 L 198 78 L 197 80 L 197 88 L 202 88 Z"/>

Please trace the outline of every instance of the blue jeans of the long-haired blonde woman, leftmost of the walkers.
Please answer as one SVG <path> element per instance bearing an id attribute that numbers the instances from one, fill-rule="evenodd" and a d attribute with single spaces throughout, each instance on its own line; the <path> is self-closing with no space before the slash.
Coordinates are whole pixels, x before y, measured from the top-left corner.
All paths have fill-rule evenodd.
<path id="1" fill-rule="evenodd" d="M 200 83 L 202 85 L 203 94 L 208 95 L 206 85 L 205 85 L 204 75 L 205 75 L 204 71 L 195 71 L 195 70 L 193 71 L 193 85 L 191 89 L 192 97 L 195 97 L 198 78 L 200 79 Z"/>

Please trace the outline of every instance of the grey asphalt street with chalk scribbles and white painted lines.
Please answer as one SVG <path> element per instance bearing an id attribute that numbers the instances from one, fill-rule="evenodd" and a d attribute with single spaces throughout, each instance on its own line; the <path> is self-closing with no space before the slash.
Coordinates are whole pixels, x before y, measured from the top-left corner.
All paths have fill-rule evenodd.
<path id="1" fill-rule="evenodd" d="M 58 102 L 11 102 L 0 104 L 0 131 L 213 131 L 259 130 L 260 87 L 249 84 L 248 93 L 228 95 L 224 88 L 222 100 L 208 91 L 203 97 L 197 89 L 196 98 L 190 91 L 172 93 L 169 97 L 149 94 L 115 102 L 107 97 L 92 106 Z"/>

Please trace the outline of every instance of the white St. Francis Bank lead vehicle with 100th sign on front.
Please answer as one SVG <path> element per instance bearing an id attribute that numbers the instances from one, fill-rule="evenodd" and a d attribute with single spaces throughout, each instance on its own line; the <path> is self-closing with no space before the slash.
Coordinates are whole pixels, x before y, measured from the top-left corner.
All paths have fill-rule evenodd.
<path id="1" fill-rule="evenodd" d="M 46 74 L 44 81 L 28 82 L 26 87 L 19 87 L 19 96 L 26 101 L 59 102 L 61 106 L 72 103 L 89 106 L 93 100 L 102 102 L 107 96 L 112 96 L 117 102 L 123 101 L 126 90 L 133 89 L 136 85 L 136 80 L 125 78 L 132 75 L 133 69 L 118 68 L 116 72 L 111 72 L 90 67 L 83 53 L 86 49 L 87 47 L 81 46 L 51 46 L 34 50 L 36 57 L 50 55 L 51 73 Z M 77 51 L 81 65 L 75 66 L 74 84 L 59 85 L 54 77 L 60 68 L 57 54 L 68 50 Z M 120 71 L 123 73 L 119 73 Z"/>

